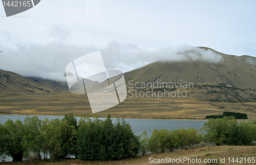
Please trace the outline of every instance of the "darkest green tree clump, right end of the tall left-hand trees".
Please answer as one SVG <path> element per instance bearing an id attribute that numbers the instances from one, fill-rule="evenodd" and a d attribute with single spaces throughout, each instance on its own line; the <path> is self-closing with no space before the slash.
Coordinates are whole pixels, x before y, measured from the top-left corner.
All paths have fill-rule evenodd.
<path id="1" fill-rule="evenodd" d="M 77 136 L 79 159 L 117 160 L 139 152 L 139 137 L 134 135 L 131 126 L 124 120 L 113 124 L 110 114 L 105 121 L 97 117 L 80 119 Z"/>

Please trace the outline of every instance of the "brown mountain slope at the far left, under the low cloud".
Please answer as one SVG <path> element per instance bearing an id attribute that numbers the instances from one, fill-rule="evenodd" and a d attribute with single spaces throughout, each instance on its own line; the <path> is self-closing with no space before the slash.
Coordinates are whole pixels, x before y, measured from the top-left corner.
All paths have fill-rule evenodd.
<path id="1" fill-rule="evenodd" d="M 58 83 L 56 86 L 51 86 L 53 82 L 40 84 L 26 77 L 20 76 L 13 72 L 0 69 L 0 93 L 49 93 L 66 90 L 64 87 L 60 87 Z M 63 89 L 64 88 L 64 89 Z"/>

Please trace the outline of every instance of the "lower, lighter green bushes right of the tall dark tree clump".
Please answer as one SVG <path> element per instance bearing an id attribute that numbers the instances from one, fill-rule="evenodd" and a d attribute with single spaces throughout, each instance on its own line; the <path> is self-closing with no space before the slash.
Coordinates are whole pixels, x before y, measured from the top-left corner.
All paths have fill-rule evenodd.
<path id="1" fill-rule="evenodd" d="M 220 145 L 255 145 L 256 121 L 240 122 L 234 116 L 222 119 L 209 119 L 200 129 L 194 128 L 167 131 L 166 129 L 154 130 L 151 137 L 146 131 L 140 135 L 140 153 L 159 153 L 174 151 L 187 146 L 197 145 L 202 142 Z"/>

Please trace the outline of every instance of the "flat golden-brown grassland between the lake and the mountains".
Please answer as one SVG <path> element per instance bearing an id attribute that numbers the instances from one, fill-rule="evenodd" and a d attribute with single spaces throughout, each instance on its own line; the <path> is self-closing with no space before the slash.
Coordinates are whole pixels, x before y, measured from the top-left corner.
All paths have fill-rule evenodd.
<path id="1" fill-rule="evenodd" d="M 121 104 L 98 112 L 97 115 L 105 117 L 111 113 L 112 117 L 124 118 L 199 119 L 210 114 L 233 111 L 246 113 L 249 119 L 256 119 L 256 102 L 221 102 L 221 100 L 211 102 L 207 100 L 209 96 L 205 96 L 205 91 L 202 90 L 207 89 L 186 89 L 188 93 L 186 98 L 127 97 Z M 216 96 L 210 94 L 210 97 Z M 76 116 L 93 115 L 87 96 L 74 95 L 69 91 L 0 95 L 0 113 L 2 114 L 63 115 L 69 112 L 73 112 Z"/>

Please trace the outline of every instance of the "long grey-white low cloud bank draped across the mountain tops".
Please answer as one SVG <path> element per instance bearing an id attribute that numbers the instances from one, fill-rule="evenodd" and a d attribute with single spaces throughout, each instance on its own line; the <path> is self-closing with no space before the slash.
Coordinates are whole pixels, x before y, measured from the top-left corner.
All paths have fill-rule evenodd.
<path id="1" fill-rule="evenodd" d="M 93 45 L 80 46 L 52 42 L 42 44 L 16 44 L 15 50 L 2 52 L 0 69 L 9 70 L 22 76 L 37 76 L 53 80 L 66 81 L 63 76 L 68 63 L 83 55 L 100 51 L 106 69 L 122 72 L 142 65 L 161 61 L 196 61 L 220 62 L 221 55 L 210 50 L 179 46 L 167 47 L 156 51 L 145 51 L 135 44 L 110 42 L 103 48 Z"/>

